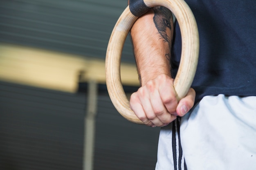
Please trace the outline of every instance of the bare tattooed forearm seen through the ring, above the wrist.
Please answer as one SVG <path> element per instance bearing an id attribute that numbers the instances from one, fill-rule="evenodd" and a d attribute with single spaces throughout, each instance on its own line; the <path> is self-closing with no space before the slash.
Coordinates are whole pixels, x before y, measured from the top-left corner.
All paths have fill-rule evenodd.
<path id="1" fill-rule="evenodd" d="M 141 85 L 160 74 L 171 77 L 171 11 L 154 7 L 138 18 L 132 26 L 131 36 Z"/>

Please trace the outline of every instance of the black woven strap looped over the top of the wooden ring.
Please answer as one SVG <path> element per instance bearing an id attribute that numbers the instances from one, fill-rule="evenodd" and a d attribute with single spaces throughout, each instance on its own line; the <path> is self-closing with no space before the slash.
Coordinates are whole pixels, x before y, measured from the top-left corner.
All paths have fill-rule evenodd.
<path id="1" fill-rule="evenodd" d="M 140 17 L 150 9 L 150 7 L 146 6 L 144 0 L 130 0 L 129 8 L 131 13 L 137 17 Z"/>

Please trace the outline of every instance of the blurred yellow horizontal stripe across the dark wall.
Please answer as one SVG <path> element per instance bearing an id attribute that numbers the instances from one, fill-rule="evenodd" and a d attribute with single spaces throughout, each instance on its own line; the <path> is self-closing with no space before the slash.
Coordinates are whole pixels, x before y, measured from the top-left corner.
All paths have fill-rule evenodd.
<path id="1" fill-rule="evenodd" d="M 46 51 L 25 46 L 0 44 L 0 80 L 74 93 L 81 79 L 106 83 L 105 60 Z M 138 86 L 134 64 L 121 64 L 124 85 Z"/>

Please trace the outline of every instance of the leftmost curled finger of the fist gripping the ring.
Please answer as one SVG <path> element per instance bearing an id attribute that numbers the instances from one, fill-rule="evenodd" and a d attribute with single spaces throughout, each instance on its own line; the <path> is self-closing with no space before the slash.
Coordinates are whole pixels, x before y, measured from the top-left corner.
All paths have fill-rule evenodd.
<path id="1" fill-rule="evenodd" d="M 139 100 L 137 93 L 132 93 L 130 97 L 130 108 L 135 115 L 147 126 L 153 126 L 154 124 L 147 118 L 144 108 Z"/>

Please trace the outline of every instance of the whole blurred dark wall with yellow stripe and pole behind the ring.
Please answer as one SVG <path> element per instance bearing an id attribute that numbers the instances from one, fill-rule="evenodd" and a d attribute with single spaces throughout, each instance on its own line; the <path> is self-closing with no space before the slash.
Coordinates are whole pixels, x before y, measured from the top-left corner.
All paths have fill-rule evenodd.
<path id="1" fill-rule="evenodd" d="M 153 170 L 159 128 L 112 105 L 105 55 L 127 0 L 0 0 L 0 169 Z M 139 83 L 130 38 L 121 77 Z"/>

